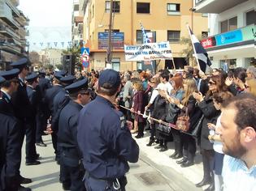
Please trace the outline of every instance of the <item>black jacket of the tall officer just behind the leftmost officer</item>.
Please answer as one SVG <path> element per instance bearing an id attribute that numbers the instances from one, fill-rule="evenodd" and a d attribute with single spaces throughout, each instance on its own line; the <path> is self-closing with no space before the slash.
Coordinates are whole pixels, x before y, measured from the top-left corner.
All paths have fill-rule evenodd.
<path id="1" fill-rule="evenodd" d="M 32 117 L 30 102 L 26 90 L 26 84 L 19 79 L 18 90 L 12 96 L 12 103 L 14 104 L 15 117 L 20 121 L 29 121 Z"/>

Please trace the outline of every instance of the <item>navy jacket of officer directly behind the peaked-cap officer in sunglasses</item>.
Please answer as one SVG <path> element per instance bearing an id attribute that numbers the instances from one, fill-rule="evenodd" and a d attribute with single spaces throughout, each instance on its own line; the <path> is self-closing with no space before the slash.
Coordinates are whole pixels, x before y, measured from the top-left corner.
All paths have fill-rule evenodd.
<path id="1" fill-rule="evenodd" d="M 59 114 L 61 110 L 67 105 L 69 102 L 68 92 L 64 89 L 59 90 L 58 94 L 54 96 L 54 103 L 53 103 L 53 112 L 52 112 L 52 121 L 51 126 L 54 131 L 58 132 L 59 129 Z"/>

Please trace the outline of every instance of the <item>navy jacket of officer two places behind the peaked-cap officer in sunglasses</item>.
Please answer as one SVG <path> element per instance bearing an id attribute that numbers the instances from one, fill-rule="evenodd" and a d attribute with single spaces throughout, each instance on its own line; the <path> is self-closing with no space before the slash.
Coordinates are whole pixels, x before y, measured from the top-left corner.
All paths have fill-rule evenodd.
<path id="1" fill-rule="evenodd" d="M 49 117 L 54 111 L 54 96 L 56 96 L 61 89 L 63 89 L 63 86 L 58 84 L 46 90 L 45 102 L 48 106 Z"/>

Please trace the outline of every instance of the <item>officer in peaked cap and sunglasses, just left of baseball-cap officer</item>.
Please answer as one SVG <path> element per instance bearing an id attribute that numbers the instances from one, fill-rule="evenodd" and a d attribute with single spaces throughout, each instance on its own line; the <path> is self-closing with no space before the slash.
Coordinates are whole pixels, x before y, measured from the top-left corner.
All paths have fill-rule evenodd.
<path id="1" fill-rule="evenodd" d="M 84 168 L 82 155 L 77 144 L 77 119 L 83 106 L 89 103 L 88 80 L 82 79 L 65 87 L 69 92 L 70 101 L 59 115 L 58 145 L 61 147 L 61 163 L 63 169 L 63 189 L 83 191 L 82 181 Z"/>

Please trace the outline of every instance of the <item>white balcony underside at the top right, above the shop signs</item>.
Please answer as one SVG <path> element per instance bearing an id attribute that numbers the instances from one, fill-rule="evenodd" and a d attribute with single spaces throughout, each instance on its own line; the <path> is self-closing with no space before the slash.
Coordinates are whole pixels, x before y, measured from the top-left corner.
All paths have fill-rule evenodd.
<path id="1" fill-rule="evenodd" d="M 198 13 L 221 13 L 248 0 L 195 0 Z"/>

